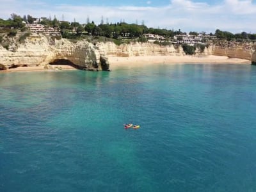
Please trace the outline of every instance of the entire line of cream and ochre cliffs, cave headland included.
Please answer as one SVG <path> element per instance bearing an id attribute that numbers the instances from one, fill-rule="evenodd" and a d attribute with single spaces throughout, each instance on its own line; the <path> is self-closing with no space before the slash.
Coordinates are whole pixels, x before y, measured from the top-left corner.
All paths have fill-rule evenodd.
<path id="1" fill-rule="evenodd" d="M 57 40 L 50 36 L 33 34 L 24 42 L 12 41 L 9 51 L 0 45 L 0 70 L 19 66 L 47 66 L 68 63 L 85 70 L 109 70 L 108 56 L 183 56 L 180 45 L 138 43 L 115 45 L 113 42 L 98 42 L 93 45 L 86 40 Z M 228 56 L 256 63 L 255 48 L 235 45 L 212 45 L 196 55 Z M 111 64 L 111 63 L 110 63 Z M 51 68 L 51 67 L 50 67 Z"/>

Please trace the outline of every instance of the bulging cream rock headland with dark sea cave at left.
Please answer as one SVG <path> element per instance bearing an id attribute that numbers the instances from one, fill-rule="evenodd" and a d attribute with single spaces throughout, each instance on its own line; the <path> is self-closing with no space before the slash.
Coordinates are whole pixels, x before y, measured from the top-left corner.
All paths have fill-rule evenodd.
<path id="1" fill-rule="evenodd" d="M 68 60 L 78 68 L 100 68 L 100 52 L 87 41 L 70 42 L 66 39 L 52 40 L 43 35 L 28 36 L 15 51 L 0 45 L 0 68 L 15 66 L 38 66 Z"/>

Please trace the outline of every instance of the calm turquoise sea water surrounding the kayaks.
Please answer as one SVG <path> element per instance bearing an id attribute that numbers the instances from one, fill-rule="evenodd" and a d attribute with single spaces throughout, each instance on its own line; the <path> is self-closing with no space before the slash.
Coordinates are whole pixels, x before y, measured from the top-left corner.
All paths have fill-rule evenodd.
<path id="1" fill-rule="evenodd" d="M 256 191 L 255 113 L 251 65 L 0 73 L 0 191 Z"/>

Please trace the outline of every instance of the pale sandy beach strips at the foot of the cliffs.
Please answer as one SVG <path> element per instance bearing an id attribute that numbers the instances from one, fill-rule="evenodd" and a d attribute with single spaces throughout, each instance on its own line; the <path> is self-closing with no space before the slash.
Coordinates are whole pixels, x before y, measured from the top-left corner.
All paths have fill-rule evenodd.
<path id="1" fill-rule="evenodd" d="M 176 65 L 176 64 L 252 64 L 249 60 L 228 58 L 227 56 L 129 56 L 116 57 L 108 56 L 109 69 L 113 70 L 118 67 L 144 67 L 147 65 Z M 77 70 L 70 65 L 54 65 L 55 69 L 46 69 L 44 66 L 36 67 L 17 67 L 0 72 L 36 72 L 36 71 L 60 71 Z"/>

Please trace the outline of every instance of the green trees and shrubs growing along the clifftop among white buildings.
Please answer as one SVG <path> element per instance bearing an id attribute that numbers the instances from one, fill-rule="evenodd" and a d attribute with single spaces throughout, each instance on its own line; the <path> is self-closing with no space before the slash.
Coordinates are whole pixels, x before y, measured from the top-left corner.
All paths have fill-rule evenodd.
<path id="1" fill-rule="evenodd" d="M 182 35 L 186 35 L 186 33 L 177 30 L 174 31 L 168 29 L 160 29 L 160 28 L 148 28 L 145 26 L 144 22 L 142 24 L 127 24 L 124 21 L 117 22 L 115 24 L 106 23 L 104 24 L 104 20 L 102 18 L 102 22 L 99 25 L 95 24 L 93 21 L 90 22 L 90 19 L 87 19 L 86 24 L 79 24 L 79 22 L 67 22 L 67 21 L 59 21 L 54 16 L 54 19 L 47 19 L 42 17 L 41 19 L 35 19 L 31 15 L 24 15 L 20 17 L 19 15 L 12 13 L 10 19 L 3 20 L 0 19 L 0 33 L 4 33 L 4 35 L 8 35 L 10 37 L 16 36 L 17 31 L 25 30 L 25 22 L 29 24 L 33 24 L 37 21 L 38 24 L 43 24 L 47 27 L 52 27 L 54 29 L 60 29 L 62 38 L 67 38 L 72 40 L 72 42 L 77 42 L 77 40 L 86 39 L 93 44 L 97 44 L 97 42 L 114 42 L 116 45 L 120 44 L 129 44 L 131 42 L 147 42 L 148 38 L 155 39 L 152 37 L 146 38 L 144 35 L 150 33 L 152 35 L 163 36 L 164 40 L 156 40 L 154 44 L 158 45 L 171 45 L 171 40 L 178 40 L 182 42 L 185 38 L 182 38 Z M 47 28 L 45 27 L 45 29 Z M 176 38 L 174 36 L 180 35 Z M 189 32 L 189 35 L 198 36 L 199 34 L 196 31 Z M 203 33 L 203 35 L 206 35 Z M 210 36 L 213 34 L 210 33 Z M 250 34 L 246 32 L 233 34 L 228 31 L 221 31 L 217 29 L 214 34 L 218 40 L 227 40 L 227 41 L 237 41 L 237 42 L 255 42 L 256 34 Z M 19 42 L 22 43 L 29 36 L 28 33 L 24 33 L 24 35 L 19 37 Z M 202 44 L 196 44 L 194 47 L 189 45 L 182 46 L 186 54 L 193 54 L 195 52 L 194 49 L 200 49 L 200 52 L 204 52 L 205 46 L 208 47 L 207 42 L 211 40 L 211 37 L 202 38 Z M 217 41 L 218 41 L 217 40 Z M 3 42 L 3 37 L 0 38 L 0 41 Z"/>

